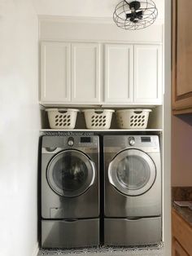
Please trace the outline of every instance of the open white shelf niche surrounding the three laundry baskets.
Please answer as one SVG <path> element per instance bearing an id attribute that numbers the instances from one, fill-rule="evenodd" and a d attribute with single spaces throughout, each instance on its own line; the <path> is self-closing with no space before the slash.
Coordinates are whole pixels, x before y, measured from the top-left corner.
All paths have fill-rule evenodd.
<path id="1" fill-rule="evenodd" d="M 46 108 L 44 106 L 40 105 L 41 131 L 54 130 L 54 129 L 50 129 Z M 49 108 L 52 108 L 52 107 L 49 107 Z M 53 108 L 68 108 L 68 107 L 67 106 L 66 107 L 58 107 L 57 106 L 57 107 L 53 107 Z M 85 125 L 85 116 L 84 116 L 84 113 L 81 112 L 81 110 L 85 109 L 85 107 L 82 108 L 79 106 L 78 107 L 70 106 L 70 108 L 77 108 L 80 110 L 80 113 L 78 113 L 77 117 L 76 117 L 76 126 L 75 126 L 74 130 L 87 130 L 86 125 Z M 91 108 L 98 108 L 98 106 L 93 106 Z M 106 108 L 106 107 L 104 107 L 104 108 Z M 141 108 L 141 106 L 140 107 L 127 106 L 126 108 Z M 137 130 L 162 130 L 163 129 L 163 107 L 162 107 L 162 105 L 160 105 L 160 106 L 142 106 L 142 108 L 151 109 L 152 111 L 149 115 L 147 128 L 146 129 L 137 129 Z M 99 109 L 101 109 L 101 108 L 99 108 Z M 118 109 L 125 109 L 125 107 L 123 107 L 123 108 L 108 108 L 108 109 L 118 110 Z M 66 130 L 66 129 L 63 129 L 63 130 Z M 103 129 L 99 129 L 99 130 L 103 130 Z M 117 126 L 116 113 L 113 113 L 113 115 L 112 115 L 111 128 L 109 130 L 124 130 L 124 129 L 120 129 Z M 131 130 L 131 129 L 127 129 L 127 130 Z"/>

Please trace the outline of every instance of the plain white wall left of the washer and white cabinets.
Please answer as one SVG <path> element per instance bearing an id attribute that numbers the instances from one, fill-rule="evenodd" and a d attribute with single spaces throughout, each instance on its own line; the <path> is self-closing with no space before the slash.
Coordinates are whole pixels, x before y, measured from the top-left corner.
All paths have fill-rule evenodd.
<path id="1" fill-rule="evenodd" d="M 30 0 L 0 0 L 0 255 L 37 246 L 40 128 L 37 15 Z"/>

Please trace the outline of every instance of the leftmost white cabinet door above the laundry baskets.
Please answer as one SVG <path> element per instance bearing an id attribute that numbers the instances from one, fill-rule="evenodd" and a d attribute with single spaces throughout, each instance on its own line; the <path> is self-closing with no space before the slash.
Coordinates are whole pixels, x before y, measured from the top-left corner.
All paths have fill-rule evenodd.
<path id="1" fill-rule="evenodd" d="M 41 42 L 41 101 L 65 103 L 71 100 L 70 44 Z"/>

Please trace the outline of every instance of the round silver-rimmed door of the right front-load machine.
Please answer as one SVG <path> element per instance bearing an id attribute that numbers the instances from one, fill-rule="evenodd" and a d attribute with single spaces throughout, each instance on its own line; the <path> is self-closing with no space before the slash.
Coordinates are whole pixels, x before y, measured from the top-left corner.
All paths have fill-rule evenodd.
<path id="1" fill-rule="evenodd" d="M 126 149 L 111 161 L 108 169 L 110 183 L 128 196 L 147 192 L 155 182 L 155 164 L 145 152 Z"/>

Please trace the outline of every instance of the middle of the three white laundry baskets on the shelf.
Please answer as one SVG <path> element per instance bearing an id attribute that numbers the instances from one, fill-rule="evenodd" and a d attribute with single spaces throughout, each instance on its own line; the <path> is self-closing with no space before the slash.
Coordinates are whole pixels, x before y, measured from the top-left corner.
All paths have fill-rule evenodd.
<path id="1" fill-rule="evenodd" d="M 87 129 L 109 129 L 111 126 L 112 109 L 84 109 Z"/>

